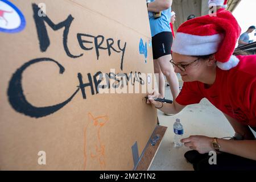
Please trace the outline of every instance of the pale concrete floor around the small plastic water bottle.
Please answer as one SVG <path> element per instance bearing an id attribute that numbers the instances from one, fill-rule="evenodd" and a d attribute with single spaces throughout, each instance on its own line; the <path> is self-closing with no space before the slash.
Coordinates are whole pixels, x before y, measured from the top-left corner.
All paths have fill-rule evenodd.
<path id="1" fill-rule="evenodd" d="M 180 85 L 183 83 L 180 82 Z M 166 87 L 166 99 L 172 99 L 170 87 Z M 173 144 L 173 125 L 176 118 L 181 120 L 184 127 L 184 138 L 190 135 L 205 135 L 208 137 L 233 137 L 234 130 L 224 115 L 206 99 L 200 104 L 189 105 L 179 114 L 167 116 L 158 110 L 160 125 L 168 129 L 162 139 L 162 143 L 151 163 L 149 170 L 167 171 L 191 171 L 192 164 L 187 163 L 184 153 L 190 150 L 188 147 L 175 148 Z"/>

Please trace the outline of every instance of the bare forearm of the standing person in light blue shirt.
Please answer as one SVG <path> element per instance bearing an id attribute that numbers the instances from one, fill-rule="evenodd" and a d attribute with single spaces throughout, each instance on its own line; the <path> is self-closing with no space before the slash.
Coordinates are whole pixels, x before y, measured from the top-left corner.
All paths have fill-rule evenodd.
<path id="1" fill-rule="evenodd" d="M 172 0 L 155 0 L 154 2 L 148 3 L 147 10 L 151 12 L 159 12 L 167 10 L 172 6 Z"/>

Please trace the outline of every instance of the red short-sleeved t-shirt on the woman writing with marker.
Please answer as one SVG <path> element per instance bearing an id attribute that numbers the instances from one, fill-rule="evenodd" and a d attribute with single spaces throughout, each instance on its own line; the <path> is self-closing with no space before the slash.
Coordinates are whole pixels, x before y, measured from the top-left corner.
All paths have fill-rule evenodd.
<path id="1" fill-rule="evenodd" d="M 240 63 L 229 71 L 217 68 L 210 88 L 199 81 L 184 82 L 176 98 L 180 105 L 198 104 L 207 98 L 217 109 L 243 125 L 256 126 L 256 55 L 237 56 Z"/>

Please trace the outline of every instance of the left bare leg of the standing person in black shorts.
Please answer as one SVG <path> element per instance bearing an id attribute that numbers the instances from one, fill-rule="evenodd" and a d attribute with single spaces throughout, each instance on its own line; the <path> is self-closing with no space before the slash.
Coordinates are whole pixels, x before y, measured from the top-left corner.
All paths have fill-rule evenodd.
<path id="1" fill-rule="evenodd" d="M 156 74 L 156 80 L 158 80 L 159 98 L 164 98 L 164 75 L 161 71 L 160 65 L 157 59 L 154 59 L 154 72 Z"/>

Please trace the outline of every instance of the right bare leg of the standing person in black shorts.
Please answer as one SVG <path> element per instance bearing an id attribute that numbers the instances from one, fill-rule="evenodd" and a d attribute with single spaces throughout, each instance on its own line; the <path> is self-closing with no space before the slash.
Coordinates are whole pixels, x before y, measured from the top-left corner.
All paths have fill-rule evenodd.
<path id="1" fill-rule="evenodd" d="M 174 72 L 174 67 L 170 63 L 171 55 L 159 57 L 159 59 L 157 60 L 163 75 L 166 76 L 167 81 L 170 84 L 172 97 L 173 100 L 175 100 L 176 97 L 179 95 L 179 80 L 176 73 Z"/>

